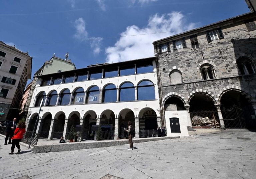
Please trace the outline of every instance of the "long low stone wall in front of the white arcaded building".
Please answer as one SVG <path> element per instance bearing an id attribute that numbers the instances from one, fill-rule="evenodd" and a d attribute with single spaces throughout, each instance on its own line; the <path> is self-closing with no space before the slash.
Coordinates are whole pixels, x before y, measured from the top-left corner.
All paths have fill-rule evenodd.
<path id="1" fill-rule="evenodd" d="M 138 139 L 133 139 L 133 143 L 165 140 L 165 139 L 175 139 L 175 138 L 180 138 L 180 136 L 138 138 Z M 114 145 L 124 145 L 124 144 L 129 144 L 129 141 L 127 139 L 122 139 L 122 140 L 110 140 L 110 141 L 103 140 L 103 141 L 93 141 L 93 142 L 59 143 L 59 144 L 51 144 L 51 145 L 39 144 L 34 146 L 33 153 L 80 150 L 80 149 L 87 149 L 87 148 L 110 147 Z"/>

